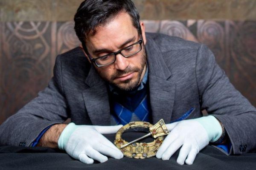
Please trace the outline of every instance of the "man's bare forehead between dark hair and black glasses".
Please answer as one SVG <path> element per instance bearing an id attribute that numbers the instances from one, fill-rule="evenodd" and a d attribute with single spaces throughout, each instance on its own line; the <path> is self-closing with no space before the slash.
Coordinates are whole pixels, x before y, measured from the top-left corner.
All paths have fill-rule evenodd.
<path id="1" fill-rule="evenodd" d="M 96 29 L 96 34 L 87 36 L 87 48 L 116 48 L 128 39 L 137 36 L 137 29 L 132 23 L 130 15 L 121 12 L 109 23 Z"/>

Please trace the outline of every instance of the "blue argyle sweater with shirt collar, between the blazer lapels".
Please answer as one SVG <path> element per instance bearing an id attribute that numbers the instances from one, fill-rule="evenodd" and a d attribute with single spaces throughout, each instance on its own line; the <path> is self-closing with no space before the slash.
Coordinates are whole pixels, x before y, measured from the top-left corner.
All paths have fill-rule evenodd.
<path id="1" fill-rule="evenodd" d="M 148 69 L 139 88 L 120 91 L 110 86 L 111 125 L 126 125 L 133 121 L 151 122 L 148 93 Z"/>

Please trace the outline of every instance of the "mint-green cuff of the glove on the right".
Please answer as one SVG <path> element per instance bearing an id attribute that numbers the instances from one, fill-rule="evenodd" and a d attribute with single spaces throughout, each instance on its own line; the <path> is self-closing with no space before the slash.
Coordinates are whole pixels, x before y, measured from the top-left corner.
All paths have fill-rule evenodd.
<path id="1" fill-rule="evenodd" d="M 221 137 L 222 127 L 214 116 L 204 116 L 195 120 L 207 131 L 209 142 L 216 142 Z"/>

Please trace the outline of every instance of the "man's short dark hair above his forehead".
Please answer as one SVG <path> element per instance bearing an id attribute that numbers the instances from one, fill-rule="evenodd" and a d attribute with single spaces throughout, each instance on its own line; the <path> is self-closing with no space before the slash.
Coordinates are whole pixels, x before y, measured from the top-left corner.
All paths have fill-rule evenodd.
<path id="1" fill-rule="evenodd" d="M 87 35 L 96 34 L 97 27 L 104 26 L 122 11 L 131 16 L 134 27 L 141 34 L 140 15 L 131 0 L 84 0 L 80 4 L 74 17 L 74 29 L 87 54 Z"/>

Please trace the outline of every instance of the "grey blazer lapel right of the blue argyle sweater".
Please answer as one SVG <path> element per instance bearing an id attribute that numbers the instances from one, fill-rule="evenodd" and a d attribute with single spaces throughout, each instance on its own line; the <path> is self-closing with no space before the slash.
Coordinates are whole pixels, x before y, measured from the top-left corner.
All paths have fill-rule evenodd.
<path id="1" fill-rule="evenodd" d="M 150 37 L 147 38 L 148 79 L 153 124 L 163 119 L 171 121 L 175 100 L 175 83 L 172 73 L 163 60 L 160 49 Z"/>

